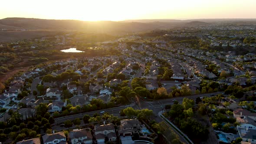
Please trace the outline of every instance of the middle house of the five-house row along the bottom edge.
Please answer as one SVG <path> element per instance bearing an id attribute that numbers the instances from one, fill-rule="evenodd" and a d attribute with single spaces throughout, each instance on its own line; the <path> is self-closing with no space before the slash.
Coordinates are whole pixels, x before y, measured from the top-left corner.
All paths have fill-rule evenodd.
<path id="1" fill-rule="evenodd" d="M 90 128 L 74 129 L 69 131 L 71 144 L 92 144 L 92 134 Z"/>

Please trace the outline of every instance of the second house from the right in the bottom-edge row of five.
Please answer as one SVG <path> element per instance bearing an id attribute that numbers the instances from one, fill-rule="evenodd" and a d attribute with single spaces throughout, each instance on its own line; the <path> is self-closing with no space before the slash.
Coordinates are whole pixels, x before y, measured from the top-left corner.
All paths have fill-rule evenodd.
<path id="1" fill-rule="evenodd" d="M 99 143 L 104 144 L 105 137 L 108 138 L 108 141 L 116 141 L 115 127 L 114 124 L 104 124 L 100 126 L 95 126 L 95 138 Z"/>

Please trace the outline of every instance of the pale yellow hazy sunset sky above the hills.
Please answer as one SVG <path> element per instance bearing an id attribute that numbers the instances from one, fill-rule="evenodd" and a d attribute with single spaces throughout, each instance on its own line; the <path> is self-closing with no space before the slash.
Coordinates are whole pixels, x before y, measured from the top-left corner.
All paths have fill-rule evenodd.
<path id="1" fill-rule="evenodd" d="M 139 20 L 256 18 L 256 0 L 1 0 L 0 19 Z"/>

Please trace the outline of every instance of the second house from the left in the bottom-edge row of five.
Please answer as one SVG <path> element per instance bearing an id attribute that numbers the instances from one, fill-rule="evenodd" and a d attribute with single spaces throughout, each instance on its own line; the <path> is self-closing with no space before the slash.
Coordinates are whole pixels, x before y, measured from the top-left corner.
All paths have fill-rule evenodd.
<path id="1" fill-rule="evenodd" d="M 43 144 L 67 144 L 64 132 L 43 135 Z"/>

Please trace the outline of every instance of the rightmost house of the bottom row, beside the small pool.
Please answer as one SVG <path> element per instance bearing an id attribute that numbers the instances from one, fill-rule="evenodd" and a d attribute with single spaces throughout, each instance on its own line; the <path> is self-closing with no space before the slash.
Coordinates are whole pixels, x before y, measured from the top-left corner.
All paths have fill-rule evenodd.
<path id="1" fill-rule="evenodd" d="M 121 124 L 118 128 L 120 136 L 131 136 L 132 134 L 138 133 L 141 129 L 141 122 L 135 119 L 121 120 Z"/>

